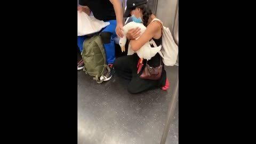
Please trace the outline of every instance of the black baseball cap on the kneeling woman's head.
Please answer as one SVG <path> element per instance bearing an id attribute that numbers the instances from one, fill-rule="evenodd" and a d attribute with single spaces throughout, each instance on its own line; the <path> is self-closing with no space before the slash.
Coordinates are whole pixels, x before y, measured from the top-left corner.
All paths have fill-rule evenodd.
<path id="1" fill-rule="evenodd" d="M 123 17 L 131 17 L 131 11 L 134 10 L 134 7 L 141 5 L 141 4 L 146 4 L 148 3 L 147 0 L 127 0 L 126 2 L 126 10 L 124 12 Z"/>

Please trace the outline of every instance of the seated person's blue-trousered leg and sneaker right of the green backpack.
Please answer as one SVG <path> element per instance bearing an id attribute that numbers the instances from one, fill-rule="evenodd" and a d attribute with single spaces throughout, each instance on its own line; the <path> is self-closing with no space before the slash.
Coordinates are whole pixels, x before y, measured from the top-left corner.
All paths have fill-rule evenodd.
<path id="1" fill-rule="evenodd" d="M 115 73 L 113 63 L 115 61 L 115 43 L 114 37 L 116 36 L 116 20 L 107 21 L 110 23 L 106 28 L 104 28 L 101 33 L 101 39 L 103 46 L 105 48 L 107 64 L 110 70 L 106 69 L 101 79 L 108 81 L 112 75 Z"/>

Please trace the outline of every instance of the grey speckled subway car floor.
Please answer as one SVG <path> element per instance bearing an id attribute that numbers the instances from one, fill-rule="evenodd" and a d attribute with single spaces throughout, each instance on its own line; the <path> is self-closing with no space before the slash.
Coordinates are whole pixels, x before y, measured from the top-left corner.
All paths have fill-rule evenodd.
<path id="1" fill-rule="evenodd" d="M 129 81 L 114 75 L 97 84 L 83 70 L 78 75 L 79 144 L 151 144 L 160 143 L 178 66 L 165 67 L 170 89 L 150 90 L 140 94 L 127 92 Z M 178 143 L 178 105 L 166 143 Z"/>

